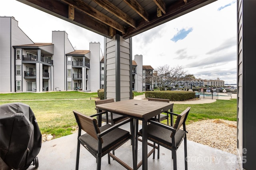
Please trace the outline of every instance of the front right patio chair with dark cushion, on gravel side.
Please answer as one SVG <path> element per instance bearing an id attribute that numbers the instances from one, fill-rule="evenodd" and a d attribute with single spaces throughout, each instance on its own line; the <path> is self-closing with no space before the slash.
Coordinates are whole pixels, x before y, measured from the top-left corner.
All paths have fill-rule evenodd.
<path id="1" fill-rule="evenodd" d="M 154 144 L 159 144 L 166 149 L 172 150 L 172 158 L 173 158 L 173 169 L 177 170 L 177 156 L 176 150 L 178 150 L 180 144 L 184 139 L 184 155 L 185 155 L 185 169 L 188 169 L 187 162 L 187 139 L 186 139 L 186 125 L 185 121 L 188 117 L 188 112 L 190 111 L 190 107 L 186 108 L 182 113 L 176 114 L 177 116 L 175 124 L 173 127 L 162 124 L 157 121 L 149 120 L 148 125 L 148 140 L 154 142 Z M 180 127 L 183 125 L 183 129 Z M 142 136 L 142 129 L 140 129 L 138 135 Z M 155 145 L 154 149 L 159 149 Z M 154 158 L 154 157 L 153 157 Z"/>

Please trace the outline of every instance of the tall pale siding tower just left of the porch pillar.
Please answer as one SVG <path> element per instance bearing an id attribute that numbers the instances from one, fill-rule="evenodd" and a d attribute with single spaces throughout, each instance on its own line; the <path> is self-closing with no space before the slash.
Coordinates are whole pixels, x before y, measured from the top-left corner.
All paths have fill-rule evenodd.
<path id="1" fill-rule="evenodd" d="M 100 43 L 90 43 L 90 91 L 100 89 Z"/>

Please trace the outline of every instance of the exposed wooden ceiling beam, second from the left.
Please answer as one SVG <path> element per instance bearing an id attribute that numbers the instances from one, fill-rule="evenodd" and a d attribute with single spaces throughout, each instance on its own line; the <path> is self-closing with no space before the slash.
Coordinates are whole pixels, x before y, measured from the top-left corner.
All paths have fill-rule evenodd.
<path id="1" fill-rule="evenodd" d="M 111 14 L 113 14 L 114 16 L 116 16 L 117 18 L 119 18 L 120 20 L 136 28 L 136 22 L 130 16 L 128 16 L 122 10 L 114 6 L 108 0 L 93 0 L 93 1 L 99 6 L 101 6 L 102 8 L 104 8 L 105 10 L 107 10 L 108 12 L 110 12 Z"/>

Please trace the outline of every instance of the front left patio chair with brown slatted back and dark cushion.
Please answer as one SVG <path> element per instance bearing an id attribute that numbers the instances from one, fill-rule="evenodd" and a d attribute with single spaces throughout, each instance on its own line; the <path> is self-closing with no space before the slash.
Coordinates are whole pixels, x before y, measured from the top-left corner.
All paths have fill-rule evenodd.
<path id="1" fill-rule="evenodd" d="M 128 131 L 118 127 L 128 122 L 133 123 L 133 119 L 122 121 L 116 125 L 107 123 L 106 125 L 99 127 L 97 120 L 92 117 L 103 114 L 104 112 L 91 116 L 83 115 L 78 111 L 73 111 L 73 113 L 78 124 L 76 170 L 78 170 L 79 166 L 80 144 L 82 144 L 96 158 L 97 170 L 100 170 L 101 158 L 106 154 L 108 154 L 108 164 L 110 164 L 110 157 L 112 157 L 122 166 L 129 167 L 114 154 L 111 154 L 110 151 L 117 149 L 129 139 L 132 139 L 132 135 L 130 135 Z M 82 130 L 86 132 L 84 135 L 81 135 Z M 134 145 L 132 146 L 132 155 L 134 160 Z"/>

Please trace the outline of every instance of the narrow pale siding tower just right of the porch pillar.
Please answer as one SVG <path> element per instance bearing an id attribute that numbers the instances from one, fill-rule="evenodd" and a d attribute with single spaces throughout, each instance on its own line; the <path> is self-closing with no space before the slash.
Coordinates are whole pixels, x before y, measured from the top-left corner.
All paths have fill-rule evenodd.
<path id="1" fill-rule="evenodd" d="M 136 61 L 137 63 L 137 69 L 136 69 L 137 79 L 135 79 L 137 82 L 137 91 L 142 92 L 142 65 L 143 65 L 142 55 L 135 55 L 134 61 Z"/>

